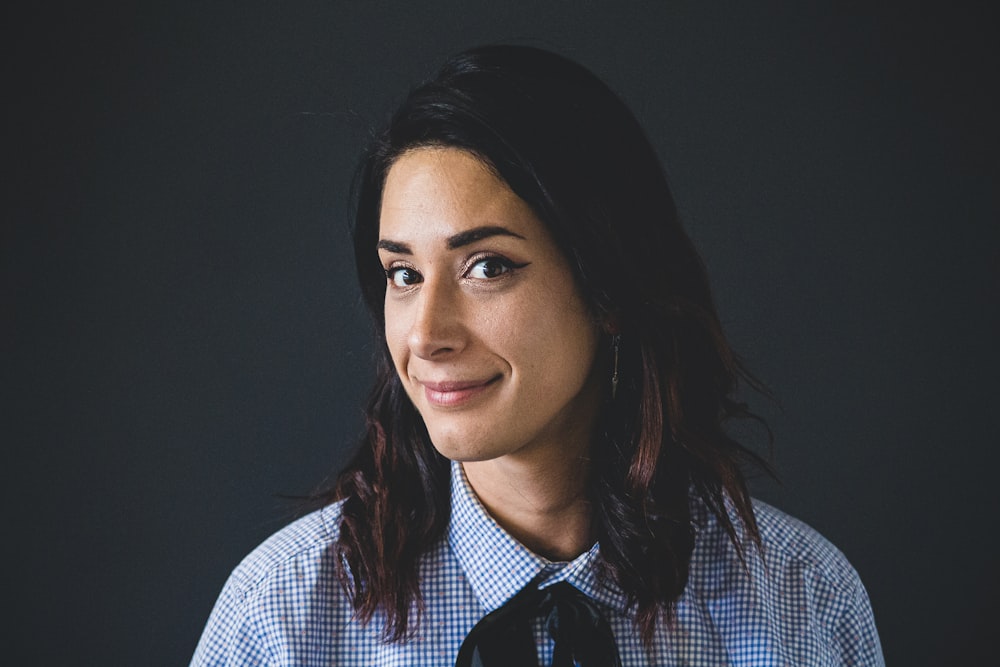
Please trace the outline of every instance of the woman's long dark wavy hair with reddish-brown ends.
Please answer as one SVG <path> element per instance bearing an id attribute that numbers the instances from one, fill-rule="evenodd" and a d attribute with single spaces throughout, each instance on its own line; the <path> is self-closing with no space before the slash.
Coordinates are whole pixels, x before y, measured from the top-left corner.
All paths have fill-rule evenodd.
<path id="1" fill-rule="evenodd" d="M 744 467 L 767 465 L 725 423 L 756 419 L 734 398 L 740 380 L 766 390 L 726 342 L 705 268 L 635 117 L 584 67 L 535 48 L 449 59 L 409 93 L 359 169 L 353 240 L 376 379 L 361 446 L 324 497 L 343 502 L 338 577 L 362 622 L 378 612 L 386 640 L 405 638 L 422 608 L 421 555 L 450 518 L 449 461 L 386 346 L 376 253 L 386 174 L 425 146 L 469 151 L 503 179 L 562 248 L 595 319 L 620 332 L 621 381 L 598 417 L 588 493 L 601 573 L 628 595 L 648 640 L 687 583 L 692 502 L 717 517 L 741 558 L 760 547 Z"/>

